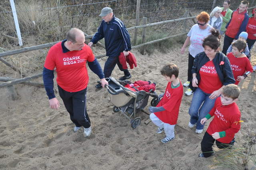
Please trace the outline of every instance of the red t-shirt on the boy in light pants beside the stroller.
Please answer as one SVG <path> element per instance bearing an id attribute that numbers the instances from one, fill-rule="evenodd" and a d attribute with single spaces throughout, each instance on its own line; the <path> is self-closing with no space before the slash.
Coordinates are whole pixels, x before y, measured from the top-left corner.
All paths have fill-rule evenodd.
<path id="1" fill-rule="evenodd" d="M 163 106 L 165 110 L 162 112 L 155 112 L 154 114 L 164 123 L 168 123 L 170 125 L 176 124 L 178 120 L 182 95 L 183 87 L 181 82 L 180 85 L 176 88 L 173 88 L 171 86 L 171 82 L 168 82 L 164 96 L 156 106 Z"/>

